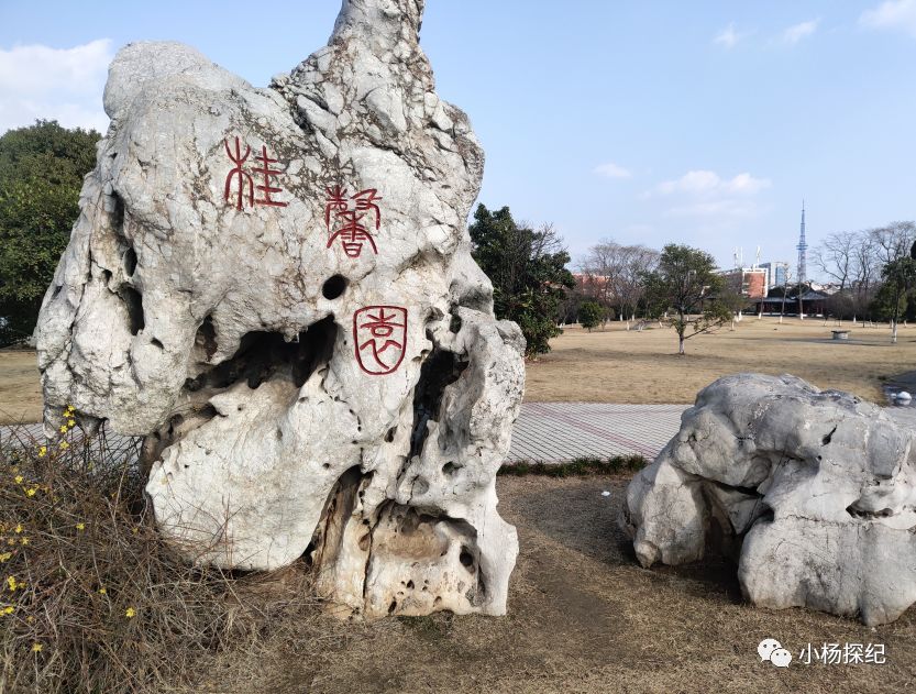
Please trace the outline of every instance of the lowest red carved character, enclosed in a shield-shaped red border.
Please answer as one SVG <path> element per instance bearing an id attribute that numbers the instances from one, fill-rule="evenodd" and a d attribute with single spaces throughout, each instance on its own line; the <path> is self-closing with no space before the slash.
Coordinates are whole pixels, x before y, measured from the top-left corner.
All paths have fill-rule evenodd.
<path id="1" fill-rule="evenodd" d="M 356 361 L 367 374 L 383 376 L 400 366 L 407 349 L 407 309 L 367 306 L 353 315 Z"/>

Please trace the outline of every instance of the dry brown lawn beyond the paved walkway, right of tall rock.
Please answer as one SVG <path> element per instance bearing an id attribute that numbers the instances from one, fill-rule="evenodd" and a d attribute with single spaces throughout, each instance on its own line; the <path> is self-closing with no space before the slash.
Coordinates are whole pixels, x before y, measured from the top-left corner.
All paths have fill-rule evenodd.
<path id="1" fill-rule="evenodd" d="M 693 403 L 697 390 L 739 372 L 793 374 L 820 388 L 849 390 L 884 404 L 883 378 L 916 368 L 916 327 L 901 327 L 896 345 L 886 324 L 851 327 L 849 342 L 831 340 L 834 321 L 744 318 L 686 342 L 678 356 L 671 328 L 627 332 L 619 323 L 586 332 L 566 328 L 550 354 L 528 364 L 528 401 Z"/>

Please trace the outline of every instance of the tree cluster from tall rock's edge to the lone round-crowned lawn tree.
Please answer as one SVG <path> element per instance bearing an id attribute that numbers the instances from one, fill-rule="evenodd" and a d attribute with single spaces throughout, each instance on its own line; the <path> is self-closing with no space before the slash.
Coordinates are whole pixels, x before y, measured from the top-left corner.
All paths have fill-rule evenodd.
<path id="1" fill-rule="evenodd" d="M 561 323 L 591 329 L 615 315 L 666 321 L 683 354 L 686 340 L 715 330 L 737 310 L 715 260 L 698 249 L 669 244 L 654 251 L 604 241 L 592 247 L 576 282 L 550 224 L 536 228 L 516 222 L 508 207 L 490 211 L 478 205 L 468 231 L 474 260 L 493 283 L 496 316 L 520 326 L 528 356 L 549 352 Z"/>

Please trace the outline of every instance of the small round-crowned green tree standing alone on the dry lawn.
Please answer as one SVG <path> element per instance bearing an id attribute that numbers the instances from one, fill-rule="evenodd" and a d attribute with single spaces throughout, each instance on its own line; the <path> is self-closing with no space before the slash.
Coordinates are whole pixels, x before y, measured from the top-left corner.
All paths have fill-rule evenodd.
<path id="1" fill-rule="evenodd" d="M 731 319 L 731 310 L 714 297 L 725 289 L 715 273 L 713 256 L 687 245 L 667 244 L 659 267 L 645 273 L 647 304 L 655 316 L 674 313 L 669 323 L 677 333 L 677 353 L 684 341 L 710 332 Z"/>

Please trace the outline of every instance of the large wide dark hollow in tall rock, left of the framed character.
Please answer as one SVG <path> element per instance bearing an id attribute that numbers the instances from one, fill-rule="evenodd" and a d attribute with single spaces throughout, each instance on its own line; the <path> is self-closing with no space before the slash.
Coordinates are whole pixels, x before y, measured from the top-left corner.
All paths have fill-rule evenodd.
<path id="1" fill-rule="evenodd" d="M 232 359 L 188 379 L 185 387 L 222 389 L 244 381 L 254 389 L 265 381 L 279 377 L 300 388 L 317 368 L 330 361 L 336 333 L 333 315 L 309 326 L 294 342 L 287 342 L 277 332 L 250 332 L 242 338 Z"/>

